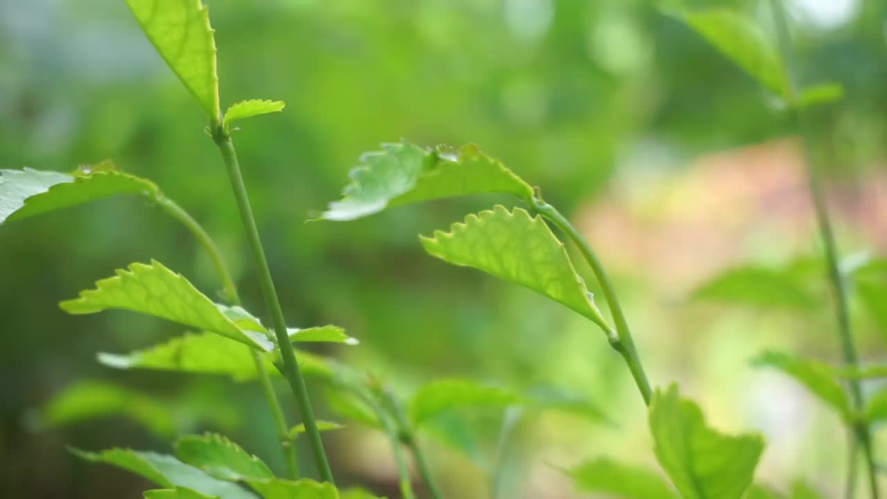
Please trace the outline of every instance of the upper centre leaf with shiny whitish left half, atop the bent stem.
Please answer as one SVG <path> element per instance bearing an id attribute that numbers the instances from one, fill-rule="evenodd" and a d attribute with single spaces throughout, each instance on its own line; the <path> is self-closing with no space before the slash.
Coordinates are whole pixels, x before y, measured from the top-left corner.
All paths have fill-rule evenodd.
<path id="1" fill-rule="evenodd" d="M 462 147 L 458 154 L 431 153 L 405 142 L 382 149 L 360 158 L 341 201 L 331 202 L 320 218 L 353 220 L 388 207 L 467 194 L 533 196 L 532 187 L 476 146 Z"/>

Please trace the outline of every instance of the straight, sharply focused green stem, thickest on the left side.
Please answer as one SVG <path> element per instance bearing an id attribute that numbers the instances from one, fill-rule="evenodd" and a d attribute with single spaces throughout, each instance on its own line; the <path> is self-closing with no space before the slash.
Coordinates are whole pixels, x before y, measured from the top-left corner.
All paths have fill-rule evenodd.
<path id="1" fill-rule="evenodd" d="M 249 205 L 247 187 L 244 186 L 243 175 L 240 173 L 240 166 L 237 161 L 237 152 L 234 150 L 231 137 L 221 127 L 216 127 L 213 139 L 222 153 L 225 168 L 228 170 L 228 177 L 231 180 L 234 197 L 237 200 L 240 218 L 247 233 L 247 241 L 255 261 L 255 269 L 259 273 L 259 284 L 262 287 L 265 305 L 267 305 L 268 311 L 271 314 L 274 333 L 277 335 L 280 356 L 283 359 L 283 373 L 287 377 L 287 381 L 295 396 L 296 405 L 302 414 L 302 423 L 305 425 L 305 433 L 308 436 L 311 451 L 314 455 L 314 463 L 317 466 L 320 479 L 334 483 L 333 471 L 330 470 L 329 462 L 326 460 L 324 444 L 320 440 L 318 424 L 314 418 L 314 410 L 311 408 L 308 386 L 305 384 L 302 371 L 295 360 L 295 353 L 290 346 L 287 322 L 284 319 L 283 310 L 280 308 L 277 290 L 274 289 L 274 281 L 271 279 L 271 269 L 268 267 L 268 260 L 262 248 L 262 240 L 259 238 L 259 231 L 255 226 L 253 210 Z"/>

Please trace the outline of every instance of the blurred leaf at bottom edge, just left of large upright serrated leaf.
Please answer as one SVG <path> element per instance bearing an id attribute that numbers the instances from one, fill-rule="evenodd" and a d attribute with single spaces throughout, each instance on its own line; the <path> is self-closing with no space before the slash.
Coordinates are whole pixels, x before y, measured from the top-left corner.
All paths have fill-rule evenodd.
<path id="1" fill-rule="evenodd" d="M 646 468 L 601 457 L 568 470 L 577 490 L 624 499 L 677 499 L 668 482 Z"/>

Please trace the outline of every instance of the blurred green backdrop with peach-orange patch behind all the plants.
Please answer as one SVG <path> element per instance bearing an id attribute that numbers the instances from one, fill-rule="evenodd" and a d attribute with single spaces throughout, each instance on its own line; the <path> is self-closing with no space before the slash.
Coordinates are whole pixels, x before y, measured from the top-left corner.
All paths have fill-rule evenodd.
<path id="1" fill-rule="evenodd" d="M 640 0 L 207 3 L 223 106 L 287 102 L 280 115 L 243 123 L 235 140 L 287 321 L 340 324 L 361 341 L 318 352 L 383 376 L 404 395 L 436 376 L 554 386 L 618 422 L 524 417 L 506 452 L 506 497 L 578 497 L 556 467 L 595 455 L 654 464 L 640 397 L 592 324 L 420 248 L 417 234 L 508 200 L 304 223 L 337 198 L 359 154 L 381 142 L 474 142 L 540 186 L 598 249 L 654 384 L 679 381 L 720 428 L 764 432 L 769 448 L 758 475 L 765 481 L 786 487 L 801 477 L 826 496 L 837 493 L 845 437 L 836 416 L 788 379 L 749 365 L 765 348 L 840 358 L 824 273 L 809 263 L 819 246 L 803 158 L 779 102 L 701 38 Z M 831 167 L 840 244 L 846 255 L 883 255 L 887 7 L 788 3 L 799 81 L 845 89 L 843 101 L 812 116 L 819 157 Z M 765 2 L 725 4 L 769 31 Z M 245 305 L 263 312 L 205 124 L 122 1 L 0 0 L 0 167 L 67 171 L 110 158 L 152 178 L 216 237 Z M 153 345 L 180 327 L 122 312 L 71 317 L 58 308 L 115 268 L 152 257 L 208 294 L 218 289 L 208 258 L 181 226 L 142 200 L 117 198 L 0 226 L 0 255 L 0 495 L 141 496 L 145 482 L 79 462 L 66 446 L 168 450 L 169 440 L 125 417 L 37 424 L 36 409 L 84 379 L 169 400 L 178 432 L 226 432 L 282 468 L 257 386 L 119 372 L 95 361 L 96 352 Z M 691 298 L 723 269 L 749 263 L 807 264 L 820 301 L 781 307 Z M 580 272 L 588 274 L 582 265 Z M 863 356 L 878 360 L 883 337 L 853 305 Z M 318 411 L 335 419 L 320 395 Z M 469 419 L 478 422 L 466 435 L 475 458 L 427 442 L 452 497 L 487 494 L 485 471 L 496 461 L 501 415 Z M 341 481 L 396 497 L 384 437 L 355 426 L 326 441 Z"/>

